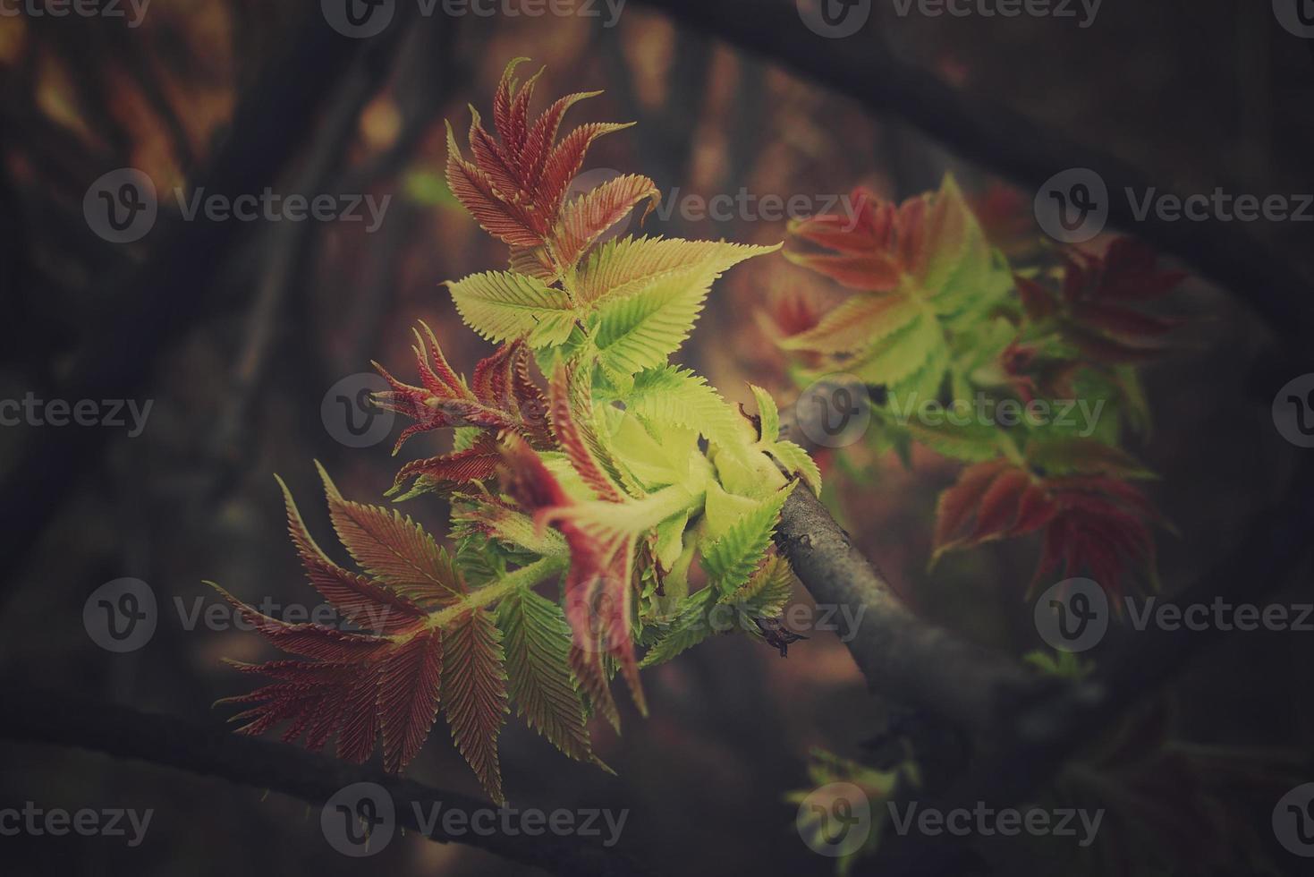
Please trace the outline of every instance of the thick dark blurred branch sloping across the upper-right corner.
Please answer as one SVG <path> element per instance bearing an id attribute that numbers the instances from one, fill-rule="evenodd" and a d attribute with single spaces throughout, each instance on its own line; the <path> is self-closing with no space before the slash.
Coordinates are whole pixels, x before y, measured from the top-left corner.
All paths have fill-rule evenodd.
<path id="1" fill-rule="evenodd" d="M 1059 171 L 1085 167 L 1104 179 L 1110 193 L 1127 188 L 1167 192 L 1146 171 L 1087 146 L 1085 139 L 1046 129 L 1016 110 L 961 92 L 895 59 L 874 38 L 870 25 L 853 37 L 830 39 L 804 26 L 794 0 L 643 1 L 690 26 L 792 67 L 875 113 L 901 118 L 1029 189 Z M 1236 224 L 1217 218 L 1167 222 L 1152 213 L 1138 220 L 1131 200 L 1123 197 L 1109 199 L 1109 221 L 1135 229 L 1138 237 L 1231 289 L 1280 335 L 1294 339 L 1307 334 L 1309 314 L 1302 305 L 1314 281 Z"/>

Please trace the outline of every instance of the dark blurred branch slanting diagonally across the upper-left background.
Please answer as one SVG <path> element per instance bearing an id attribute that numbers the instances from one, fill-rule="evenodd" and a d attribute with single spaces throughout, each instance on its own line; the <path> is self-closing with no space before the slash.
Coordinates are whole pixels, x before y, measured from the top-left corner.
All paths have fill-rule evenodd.
<path id="1" fill-rule="evenodd" d="M 403 5 L 403 11 L 410 7 Z M 198 180 L 210 195 L 233 199 L 271 185 L 315 130 L 315 117 L 334 85 L 360 53 L 390 54 L 407 30 L 409 13 L 373 39 L 352 39 L 327 28 L 319 11 L 305 16 L 292 49 L 267 68 L 233 118 L 226 145 Z M 162 222 L 162 226 L 166 225 Z M 217 273 L 240 234 L 238 222 L 183 222 L 152 231 L 152 258 L 114 291 L 124 302 L 117 318 L 81 351 L 68 380 L 41 388 L 64 400 L 133 398 L 147 384 L 156 359 L 202 312 L 205 296 L 189 277 Z M 29 442 L 26 454 L 0 486 L 0 568 L 8 577 L 55 517 L 83 472 L 100 459 L 106 430 L 51 430 Z"/>

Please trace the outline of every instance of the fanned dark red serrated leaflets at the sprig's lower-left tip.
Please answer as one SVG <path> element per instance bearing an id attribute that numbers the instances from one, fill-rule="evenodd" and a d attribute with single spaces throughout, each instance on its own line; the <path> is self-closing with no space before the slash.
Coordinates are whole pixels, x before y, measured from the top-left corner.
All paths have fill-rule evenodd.
<path id="1" fill-rule="evenodd" d="M 240 734 L 258 735 L 288 723 L 285 742 L 304 738 L 322 749 L 336 735 L 338 757 L 363 763 L 382 736 L 384 767 L 396 772 L 420 749 L 438 714 L 443 640 L 428 626 L 428 607 L 466 593 L 451 564 L 414 525 L 382 510 L 348 504 L 327 484 L 335 525 L 367 565 L 405 571 L 409 588 L 390 588 L 330 560 L 306 531 L 284 486 L 288 530 L 310 584 L 363 632 L 317 623 L 293 625 L 261 614 L 227 592 L 244 621 L 273 646 L 300 659 L 234 665 L 273 682 L 226 703 L 247 705 L 233 717 Z M 401 531 L 411 530 L 405 538 Z M 386 544 L 386 552 L 376 551 Z M 372 563 L 376 556 L 380 563 Z"/>

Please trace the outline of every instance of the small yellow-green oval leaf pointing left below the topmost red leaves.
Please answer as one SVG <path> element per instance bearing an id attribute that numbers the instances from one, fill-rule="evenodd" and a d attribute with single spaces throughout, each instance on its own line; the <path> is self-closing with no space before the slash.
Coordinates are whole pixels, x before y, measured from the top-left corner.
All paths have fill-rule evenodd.
<path id="1" fill-rule="evenodd" d="M 564 343 L 576 327 L 566 293 L 528 275 L 487 271 L 447 285 L 461 320 L 491 342 L 528 335 L 531 347 L 547 347 Z"/>

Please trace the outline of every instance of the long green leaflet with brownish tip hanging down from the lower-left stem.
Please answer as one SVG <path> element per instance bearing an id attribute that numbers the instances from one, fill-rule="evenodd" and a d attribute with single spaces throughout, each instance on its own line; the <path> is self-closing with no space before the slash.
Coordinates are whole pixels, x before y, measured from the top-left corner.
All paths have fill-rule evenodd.
<path id="1" fill-rule="evenodd" d="M 561 607 L 526 588 L 503 598 L 497 617 L 519 714 L 569 757 L 594 760 L 583 702 L 570 675 L 570 625 Z"/>

